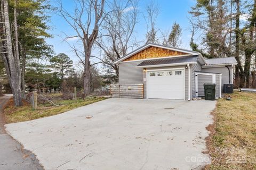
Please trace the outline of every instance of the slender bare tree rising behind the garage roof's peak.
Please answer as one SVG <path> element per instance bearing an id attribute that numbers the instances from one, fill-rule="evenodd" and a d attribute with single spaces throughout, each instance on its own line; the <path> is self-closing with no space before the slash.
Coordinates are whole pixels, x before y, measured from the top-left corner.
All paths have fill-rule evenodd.
<path id="1" fill-rule="evenodd" d="M 159 15 L 160 8 L 154 1 L 150 1 L 146 6 L 146 15 L 144 16 L 147 22 L 147 33 L 146 33 L 146 43 L 158 43 L 156 28 L 156 20 Z"/>

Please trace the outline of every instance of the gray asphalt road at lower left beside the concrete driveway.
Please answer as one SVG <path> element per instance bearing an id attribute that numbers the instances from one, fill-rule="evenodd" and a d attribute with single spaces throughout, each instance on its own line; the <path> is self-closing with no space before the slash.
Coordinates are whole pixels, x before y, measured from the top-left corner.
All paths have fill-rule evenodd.
<path id="1" fill-rule="evenodd" d="M 1 170 L 34 170 L 44 169 L 29 150 L 23 149 L 19 142 L 14 140 L 4 130 L 3 106 L 11 95 L 0 97 L 0 169 Z"/>

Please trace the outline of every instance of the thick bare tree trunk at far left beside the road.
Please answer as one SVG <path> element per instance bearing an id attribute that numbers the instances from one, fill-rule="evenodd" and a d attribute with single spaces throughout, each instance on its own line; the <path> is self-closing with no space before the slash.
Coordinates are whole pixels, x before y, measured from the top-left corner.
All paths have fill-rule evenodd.
<path id="1" fill-rule="evenodd" d="M 9 20 L 9 4 L 7 0 L 1 1 L 1 54 L 5 62 L 5 70 L 12 89 L 15 106 L 22 106 L 21 100 L 21 71 L 18 46 L 18 25 L 17 25 L 17 0 L 14 1 L 14 37 L 13 45 L 12 31 Z"/>

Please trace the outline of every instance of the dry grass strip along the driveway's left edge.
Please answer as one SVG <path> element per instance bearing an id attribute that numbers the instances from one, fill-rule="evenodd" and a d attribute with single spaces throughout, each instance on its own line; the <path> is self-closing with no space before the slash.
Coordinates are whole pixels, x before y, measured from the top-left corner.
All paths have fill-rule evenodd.
<path id="1" fill-rule="evenodd" d="M 77 100 L 59 100 L 55 104 L 60 106 L 52 106 L 50 104 L 39 104 L 38 109 L 35 111 L 31 104 L 26 101 L 23 102 L 22 107 L 14 107 L 13 99 L 9 101 L 7 106 L 4 109 L 5 122 L 6 123 L 15 123 L 34 120 L 36 118 L 42 118 L 52 115 L 57 115 L 63 112 L 70 111 L 71 109 L 89 105 L 97 101 L 104 100 L 104 97 L 89 97 L 86 99 L 77 99 Z"/>

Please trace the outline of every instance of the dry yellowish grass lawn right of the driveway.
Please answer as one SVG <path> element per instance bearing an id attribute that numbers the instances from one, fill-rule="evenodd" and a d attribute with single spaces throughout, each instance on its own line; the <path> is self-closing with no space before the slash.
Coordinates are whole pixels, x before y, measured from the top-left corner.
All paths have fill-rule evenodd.
<path id="1" fill-rule="evenodd" d="M 219 99 L 207 138 L 212 163 L 205 169 L 256 169 L 256 93 Z"/>

